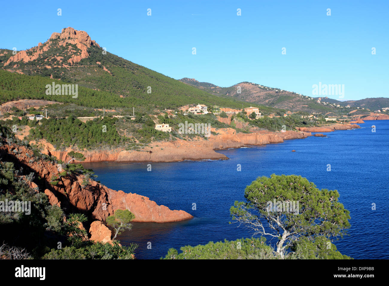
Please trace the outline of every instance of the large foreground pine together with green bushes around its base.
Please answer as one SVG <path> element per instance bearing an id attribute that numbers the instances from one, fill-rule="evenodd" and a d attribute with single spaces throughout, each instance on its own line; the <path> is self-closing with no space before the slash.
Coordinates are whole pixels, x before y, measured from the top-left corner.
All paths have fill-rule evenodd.
<path id="1" fill-rule="evenodd" d="M 247 186 L 245 198 L 231 207 L 231 217 L 260 238 L 184 246 L 180 253 L 171 248 L 164 259 L 350 259 L 331 243 L 350 228 L 349 211 L 336 190 L 319 190 L 301 176 L 273 174 Z M 265 243 L 265 235 L 278 239 L 276 249 Z"/>

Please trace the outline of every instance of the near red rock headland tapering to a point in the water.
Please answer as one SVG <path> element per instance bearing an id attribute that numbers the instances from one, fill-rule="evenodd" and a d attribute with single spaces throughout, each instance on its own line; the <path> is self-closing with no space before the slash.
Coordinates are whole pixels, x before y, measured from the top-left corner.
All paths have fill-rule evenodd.
<path id="1" fill-rule="evenodd" d="M 12 152 L 16 147 L 18 151 Z M 66 212 L 82 212 L 99 221 L 105 221 L 116 209 L 130 210 L 135 215 L 134 221 L 164 223 L 193 218 L 187 212 L 172 211 L 141 195 L 114 191 L 93 180 L 85 184 L 85 176 L 81 174 L 60 177 L 56 179 L 58 183 L 52 185 L 49 182 L 53 181 L 54 176 L 58 177 L 57 166 L 51 161 L 35 161 L 32 150 L 25 146 L 4 144 L 0 146 L 0 158 L 14 161 L 25 170 L 31 169 L 35 177 L 42 178 L 38 185 L 34 183 L 37 189 L 45 190 L 49 202 L 60 205 Z"/>

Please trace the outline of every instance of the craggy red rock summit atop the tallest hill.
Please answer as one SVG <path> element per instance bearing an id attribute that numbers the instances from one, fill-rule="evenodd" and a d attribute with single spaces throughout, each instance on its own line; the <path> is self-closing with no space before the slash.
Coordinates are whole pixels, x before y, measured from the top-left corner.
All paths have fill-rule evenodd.
<path id="1" fill-rule="evenodd" d="M 69 45 L 70 44 L 70 45 Z M 71 45 L 75 45 L 77 49 L 81 51 L 74 50 Z M 48 51 L 51 47 L 63 46 L 66 47 L 66 54 L 72 55 L 67 63 L 63 63 L 63 56 L 61 55 L 53 55 L 51 58 L 46 58 L 45 61 L 50 63 L 52 58 L 55 58 L 61 63 L 61 66 L 65 66 L 66 64 L 74 64 L 81 61 L 83 58 L 87 58 L 88 48 L 91 46 L 100 47 L 94 40 L 91 40 L 88 33 L 84 31 L 77 31 L 74 28 L 68 27 L 62 29 L 61 33 L 53 33 L 49 40 L 46 42 L 39 43 L 38 46 L 32 47 L 26 51 L 19 51 L 14 56 L 11 56 L 4 64 L 4 67 L 9 65 L 10 63 L 15 63 L 18 61 L 23 61 L 27 63 L 29 61 L 37 60 L 42 56 L 42 54 Z"/>

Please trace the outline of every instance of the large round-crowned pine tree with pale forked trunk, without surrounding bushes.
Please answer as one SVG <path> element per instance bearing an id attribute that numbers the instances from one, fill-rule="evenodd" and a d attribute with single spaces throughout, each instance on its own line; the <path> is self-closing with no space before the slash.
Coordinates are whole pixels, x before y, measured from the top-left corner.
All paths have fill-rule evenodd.
<path id="1" fill-rule="evenodd" d="M 315 242 L 319 237 L 343 237 L 350 228 L 350 212 L 338 202 L 338 191 L 319 190 L 301 176 L 258 177 L 245 189 L 245 198 L 247 202 L 237 201 L 231 207 L 233 221 L 278 238 L 276 254 L 280 257 L 296 240 Z M 275 201 L 277 208 L 272 205 Z M 265 232 L 264 221 L 270 232 Z"/>

